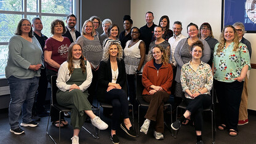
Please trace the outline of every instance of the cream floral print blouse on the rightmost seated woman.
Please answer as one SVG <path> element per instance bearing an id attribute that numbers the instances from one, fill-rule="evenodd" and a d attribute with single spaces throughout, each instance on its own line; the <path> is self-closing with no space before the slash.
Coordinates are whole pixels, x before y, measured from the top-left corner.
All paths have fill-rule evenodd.
<path id="1" fill-rule="evenodd" d="M 193 70 L 190 62 L 185 63 L 182 66 L 180 75 L 180 82 L 182 84 L 183 92 L 185 92 L 185 97 L 191 98 L 190 95 L 186 93 L 186 89 L 189 89 L 190 92 L 194 94 L 206 87 L 208 91 L 204 94 L 210 94 L 213 83 L 212 69 L 210 68 L 210 65 L 201 61 L 198 68 Z"/>

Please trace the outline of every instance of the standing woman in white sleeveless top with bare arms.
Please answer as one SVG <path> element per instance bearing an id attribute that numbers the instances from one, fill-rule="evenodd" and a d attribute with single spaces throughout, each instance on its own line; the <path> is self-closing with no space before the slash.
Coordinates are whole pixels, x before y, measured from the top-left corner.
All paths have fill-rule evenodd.
<path id="1" fill-rule="evenodd" d="M 124 48 L 124 64 L 126 65 L 129 100 L 132 105 L 135 102 L 135 73 L 143 70 L 145 61 L 145 43 L 139 39 L 140 29 L 133 27 L 131 30 L 132 40 L 126 42 Z"/>

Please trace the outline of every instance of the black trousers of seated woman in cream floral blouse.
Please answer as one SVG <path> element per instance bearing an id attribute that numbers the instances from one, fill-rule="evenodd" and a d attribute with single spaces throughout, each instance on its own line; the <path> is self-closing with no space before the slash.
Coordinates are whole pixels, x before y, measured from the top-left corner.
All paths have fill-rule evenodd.
<path id="1" fill-rule="evenodd" d="M 186 110 L 191 112 L 191 119 L 194 121 L 194 129 L 202 131 L 204 119 L 202 111 L 212 104 L 212 97 L 208 94 L 201 94 L 194 99 L 186 98 Z"/>

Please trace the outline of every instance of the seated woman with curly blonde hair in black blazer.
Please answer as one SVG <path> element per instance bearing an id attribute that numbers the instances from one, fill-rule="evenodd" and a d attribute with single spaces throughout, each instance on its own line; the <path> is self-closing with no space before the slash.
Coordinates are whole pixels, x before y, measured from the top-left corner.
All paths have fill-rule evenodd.
<path id="1" fill-rule="evenodd" d="M 128 115 L 127 95 L 122 88 L 126 84 L 126 68 L 122 60 L 122 47 L 118 42 L 110 42 L 103 52 L 102 62 L 98 70 L 98 101 L 111 103 L 113 115 L 111 123 L 111 140 L 119 143 L 116 130 L 119 125 L 119 117 L 122 113 L 124 122 L 121 128 L 130 136 L 136 137 L 136 132 L 130 124 Z"/>

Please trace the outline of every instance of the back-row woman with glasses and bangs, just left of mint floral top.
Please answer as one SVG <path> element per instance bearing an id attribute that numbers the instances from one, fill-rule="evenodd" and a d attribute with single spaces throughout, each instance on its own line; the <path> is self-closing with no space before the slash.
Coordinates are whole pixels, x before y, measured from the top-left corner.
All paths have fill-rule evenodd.
<path id="1" fill-rule="evenodd" d="M 218 43 L 218 40 L 214 38 L 212 33 L 212 27 L 209 23 L 202 23 L 200 26 L 199 38 L 206 40 L 210 47 L 210 60 L 208 64 L 212 66 L 212 58 L 214 58 L 214 47 Z"/>

